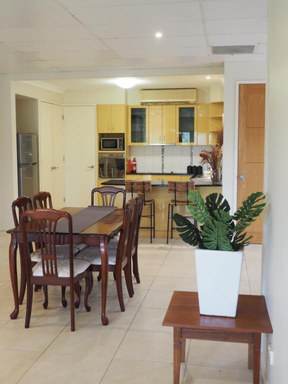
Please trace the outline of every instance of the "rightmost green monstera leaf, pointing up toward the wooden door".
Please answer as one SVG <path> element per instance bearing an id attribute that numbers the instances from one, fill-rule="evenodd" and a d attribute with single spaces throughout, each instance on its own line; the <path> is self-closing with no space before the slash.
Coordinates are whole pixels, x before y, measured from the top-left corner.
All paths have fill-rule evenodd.
<path id="1" fill-rule="evenodd" d="M 250 194 L 250 196 L 243 201 L 242 206 L 240 206 L 233 215 L 233 219 L 238 221 L 234 231 L 241 232 L 255 221 L 255 217 L 259 216 L 265 206 L 264 202 L 258 202 L 264 198 L 265 195 L 262 192 L 256 192 Z"/>

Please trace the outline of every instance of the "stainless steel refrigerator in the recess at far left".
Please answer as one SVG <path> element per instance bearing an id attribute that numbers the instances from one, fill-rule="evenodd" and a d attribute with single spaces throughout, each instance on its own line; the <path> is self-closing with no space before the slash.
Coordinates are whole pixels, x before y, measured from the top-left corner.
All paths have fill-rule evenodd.
<path id="1" fill-rule="evenodd" d="M 39 191 L 37 136 L 17 133 L 18 195 L 33 198 Z"/>

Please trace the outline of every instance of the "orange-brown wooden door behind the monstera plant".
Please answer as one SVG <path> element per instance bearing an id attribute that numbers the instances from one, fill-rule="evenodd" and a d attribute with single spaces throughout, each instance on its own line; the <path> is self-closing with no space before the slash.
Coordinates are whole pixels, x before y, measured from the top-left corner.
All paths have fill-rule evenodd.
<path id="1" fill-rule="evenodd" d="M 263 190 L 264 125 L 265 84 L 241 84 L 237 206 L 240 206 L 249 194 Z M 262 214 L 247 228 L 247 234 L 254 236 L 252 242 L 262 242 Z"/>

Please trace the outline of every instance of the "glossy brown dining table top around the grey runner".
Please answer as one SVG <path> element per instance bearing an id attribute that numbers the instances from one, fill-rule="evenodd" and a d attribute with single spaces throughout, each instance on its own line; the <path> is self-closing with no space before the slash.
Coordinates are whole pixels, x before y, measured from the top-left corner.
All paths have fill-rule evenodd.
<path id="1" fill-rule="evenodd" d="M 60 210 L 69 212 L 72 215 L 74 213 L 77 213 L 81 209 L 84 209 L 84 208 L 83 207 L 63 207 Z M 124 214 L 124 210 L 122 208 L 117 208 L 113 210 L 111 213 L 107 214 L 105 217 L 96 221 L 94 224 L 90 225 L 88 228 L 82 230 L 79 234 L 85 235 L 85 236 L 89 236 L 89 235 L 112 236 L 120 230 L 122 226 L 122 221 L 123 221 L 123 214 Z M 33 225 L 32 221 L 27 222 L 25 225 L 26 225 L 27 232 L 36 231 L 36 228 Z M 20 226 L 7 230 L 7 233 L 20 233 L 20 232 L 21 232 Z"/>

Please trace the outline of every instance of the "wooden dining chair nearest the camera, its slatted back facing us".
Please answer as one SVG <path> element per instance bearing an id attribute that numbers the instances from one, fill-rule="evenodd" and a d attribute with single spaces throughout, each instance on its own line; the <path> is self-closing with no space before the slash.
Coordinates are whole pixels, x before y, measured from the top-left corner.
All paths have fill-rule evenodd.
<path id="1" fill-rule="evenodd" d="M 29 218 L 33 220 L 33 223 L 27 223 Z M 58 257 L 56 253 L 56 245 L 61 244 L 62 237 L 56 234 L 56 226 L 57 221 L 61 218 L 68 221 L 68 259 Z M 68 212 L 58 211 L 52 208 L 42 208 L 23 212 L 20 222 L 27 280 L 25 328 L 28 328 L 30 323 L 33 285 L 42 285 L 45 290 L 47 290 L 47 285 L 60 285 L 70 287 L 71 331 L 73 331 L 75 330 L 74 286 L 77 285 L 82 278 L 85 279 L 84 305 L 87 311 L 90 310 L 90 306 L 88 305 L 90 262 L 87 260 L 76 260 L 73 257 L 72 217 Z M 30 226 L 28 224 L 30 224 Z M 39 249 L 41 251 L 41 261 L 37 262 L 34 266 L 31 263 L 29 252 L 29 231 L 37 233 Z M 47 308 L 47 305 L 48 301 L 45 303 L 44 308 Z"/>

